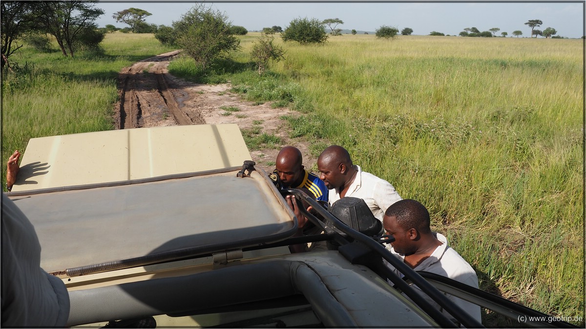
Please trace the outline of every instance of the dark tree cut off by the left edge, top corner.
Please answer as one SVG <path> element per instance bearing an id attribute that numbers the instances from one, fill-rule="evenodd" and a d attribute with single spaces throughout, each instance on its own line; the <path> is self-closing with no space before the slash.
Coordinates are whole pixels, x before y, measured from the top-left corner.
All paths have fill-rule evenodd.
<path id="1" fill-rule="evenodd" d="M 35 7 L 38 2 L 29 1 L 2 1 L 0 39 L 2 39 L 2 68 L 8 63 L 10 57 L 16 50 L 22 47 L 16 40 L 33 28 L 35 23 Z"/>

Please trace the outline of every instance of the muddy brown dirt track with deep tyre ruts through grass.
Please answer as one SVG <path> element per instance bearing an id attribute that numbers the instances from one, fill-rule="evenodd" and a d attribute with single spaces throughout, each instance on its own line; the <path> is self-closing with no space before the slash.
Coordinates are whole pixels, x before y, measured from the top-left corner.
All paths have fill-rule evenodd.
<path id="1" fill-rule="evenodd" d="M 115 107 L 116 129 L 141 127 L 237 124 L 240 129 L 262 122 L 262 131 L 280 136 L 281 146 L 293 145 L 304 155 L 304 165 L 316 162 L 309 156 L 308 143 L 288 138 L 288 124 L 282 115 L 298 115 L 287 108 L 271 108 L 270 103 L 254 105 L 231 93 L 230 84 L 190 83 L 168 73 L 167 67 L 179 51 L 160 54 L 125 67 L 118 77 L 120 102 Z M 222 107 L 236 107 L 226 115 Z M 265 171 L 274 169 L 279 149 L 250 150 L 251 157 Z"/>

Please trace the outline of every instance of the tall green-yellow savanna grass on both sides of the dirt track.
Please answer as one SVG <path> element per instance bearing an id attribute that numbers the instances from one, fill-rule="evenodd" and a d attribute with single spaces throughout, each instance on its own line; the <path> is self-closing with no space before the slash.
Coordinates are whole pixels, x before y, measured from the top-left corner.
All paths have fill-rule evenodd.
<path id="1" fill-rule="evenodd" d="M 248 57 L 258 36 L 241 37 L 241 52 L 213 74 L 189 59 L 169 71 L 297 109 L 285 118 L 291 136 L 315 154 L 344 146 L 423 203 L 481 289 L 584 316 L 583 40 L 343 35 L 301 46 L 277 35 L 285 60 L 259 77 Z M 2 83 L 2 163 L 29 138 L 113 129 L 120 68 L 172 50 L 122 33 L 103 47 L 76 59 L 16 55 L 29 66 Z"/>

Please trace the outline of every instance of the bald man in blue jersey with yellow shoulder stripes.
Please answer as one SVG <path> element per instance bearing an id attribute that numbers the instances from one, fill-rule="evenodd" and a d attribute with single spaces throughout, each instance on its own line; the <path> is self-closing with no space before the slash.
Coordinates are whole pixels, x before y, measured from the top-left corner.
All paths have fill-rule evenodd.
<path id="1" fill-rule="evenodd" d="M 281 189 L 301 189 L 305 187 L 315 200 L 328 201 L 328 188 L 318 176 L 305 170 L 302 165 L 301 151 L 293 146 L 285 146 L 277 155 L 274 174 L 281 181 Z"/>

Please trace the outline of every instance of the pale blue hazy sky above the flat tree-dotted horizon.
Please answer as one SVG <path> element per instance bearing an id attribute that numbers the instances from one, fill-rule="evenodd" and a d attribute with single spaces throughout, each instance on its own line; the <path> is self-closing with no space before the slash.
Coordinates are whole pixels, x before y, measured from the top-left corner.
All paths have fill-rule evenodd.
<path id="1" fill-rule="evenodd" d="M 514 30 L 521 30 L 529 37 L 531 28 L 524 25 L 530 19 L 543 21 L 537 29 L 551 27 L 557 35 L 581 37 L 584 33 L 584 1 L 531 1 L 531 2 L 218 2 L 206 1 L 226 13 L 233 25 L 248 30 L 261 30 L 274 25 L 285 29 L 295 18 L 339 18 L 344 24 L 341 29 L 374 31 L 382 25 L 394 26 L 399 30 L 413 29 L 414 35 L 428 35 L 431 31 L 458 35 L 464 28 L 475 27 L 481 31 L 499 28 L 512 36 Z M 147 23 L 171 25 L 196 4 L 196 1 L 100 1 L 98 8 L 105 14 L 97 23 L 99 26 L 112 24 L 124 28 L 112 18 L 117 11 L 131 7 L 152 13 Z"/>

